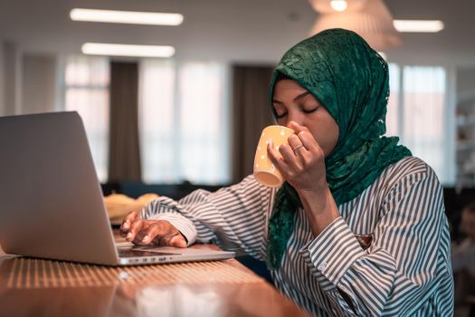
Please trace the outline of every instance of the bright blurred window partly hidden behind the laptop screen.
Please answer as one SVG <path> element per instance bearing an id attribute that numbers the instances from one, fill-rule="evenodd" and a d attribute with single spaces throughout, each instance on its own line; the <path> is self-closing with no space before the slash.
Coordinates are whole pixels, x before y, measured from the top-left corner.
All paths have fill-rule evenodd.
<path id="1" fill-rule="evenodd" d="M 107 180 L 109 151 L 109 61 L 69 56 L 65 61 L 64 109 L 78 111 L 101 182 Z"/>

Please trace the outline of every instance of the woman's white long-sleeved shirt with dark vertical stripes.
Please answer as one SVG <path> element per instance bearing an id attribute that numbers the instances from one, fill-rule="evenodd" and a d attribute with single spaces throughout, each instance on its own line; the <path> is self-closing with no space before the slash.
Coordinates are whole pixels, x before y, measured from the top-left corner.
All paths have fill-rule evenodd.
<path id="1" fill-rule="evenodd" d="M 166 218 L 191 244 L 213 241 L 264 260 L 276 189 L 252 177 L 174 201 L 160 197 L 145 218 Z M 318 236 L 303 209 L 276 287 L 316 316 L 451 316 L 450 235 L 442 187 L 432 168 L 408 157 L 385 171 Z"/>

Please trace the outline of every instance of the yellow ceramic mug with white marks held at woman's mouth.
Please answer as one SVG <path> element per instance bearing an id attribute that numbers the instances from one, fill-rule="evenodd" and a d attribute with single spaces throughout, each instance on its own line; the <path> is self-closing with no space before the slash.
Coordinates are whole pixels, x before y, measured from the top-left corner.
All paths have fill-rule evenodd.
<path id="1" fill-rule="evenodd" d="M 267 145 L 272 140 L 274 147 L 279 149 L 281 144 L 287 143 L 287 139 L 294 133 L 293 130 L 284 126 L 269 126 L 262 130 L 261 139 L 257 145 L 254 157 L 254 178 L 268 187 L 279 187 L 284 182 L 282 174 L 271 162 L 267 155 Z"/>

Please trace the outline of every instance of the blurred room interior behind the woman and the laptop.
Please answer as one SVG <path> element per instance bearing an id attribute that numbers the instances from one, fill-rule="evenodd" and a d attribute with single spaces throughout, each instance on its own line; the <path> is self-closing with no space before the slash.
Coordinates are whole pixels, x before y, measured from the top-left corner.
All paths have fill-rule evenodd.
<path id="1" fill-rule="evenodd" d="M 175 15 L 121 24 L 91 9 Z M 0 0 L 0 116 L 78 111 L 106 195 L 214 190 L 252 172 L 281 55 L 350 28 L 389 63 L 387 134 L 436 171 L 457 244 L 475 199 L 474 11 L 472 0 Z"/>

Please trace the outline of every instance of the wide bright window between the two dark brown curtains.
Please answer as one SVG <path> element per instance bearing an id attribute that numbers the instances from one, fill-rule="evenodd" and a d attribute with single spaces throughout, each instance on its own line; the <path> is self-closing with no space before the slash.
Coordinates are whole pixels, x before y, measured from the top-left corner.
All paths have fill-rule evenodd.
<path id="1" fill-rule="evenodd" d="M 225 67 L 215 62 L 140 63 L 140 146 L 145 182 L 229 181 L 225 80 Z"/>

